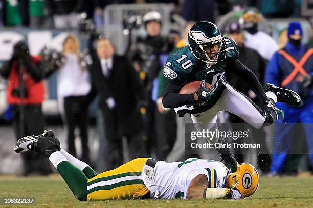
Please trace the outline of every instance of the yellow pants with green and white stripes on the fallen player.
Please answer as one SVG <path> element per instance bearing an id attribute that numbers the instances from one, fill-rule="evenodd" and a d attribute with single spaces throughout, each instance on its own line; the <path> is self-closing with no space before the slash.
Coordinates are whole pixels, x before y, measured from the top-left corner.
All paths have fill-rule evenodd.
<path id="1" fill-rule="evenodd" d="M 87 200 L 132 199 L 149 192 L 141 171 L 148 158 L 137 158 L 120 167 L 98 174 L 87 182 Z"/>

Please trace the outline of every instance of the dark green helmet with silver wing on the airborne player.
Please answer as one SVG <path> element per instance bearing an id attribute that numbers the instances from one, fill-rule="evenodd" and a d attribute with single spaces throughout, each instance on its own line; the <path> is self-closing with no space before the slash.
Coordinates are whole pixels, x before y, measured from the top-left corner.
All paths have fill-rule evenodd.
<path id="1" fill-rule="evenodd" d="M 226 58 L 224 39 L 212 22 L 194 24 L 189 30 L 188 42 L 191 53 L 207 64 L 214 65 Z"/>

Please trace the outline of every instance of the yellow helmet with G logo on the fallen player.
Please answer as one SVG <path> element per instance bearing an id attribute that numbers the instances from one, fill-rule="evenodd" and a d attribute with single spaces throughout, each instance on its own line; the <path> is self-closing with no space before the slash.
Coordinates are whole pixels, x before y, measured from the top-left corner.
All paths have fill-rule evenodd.
<path id="1" fill-rule="evenodd" d="M 243 198 L 251 196 L 258 189 L 260 177 L 253 165 L 240 163 L 237 171 L 231 173 L 226 179 L 227 187 L 235 187 Z"/>

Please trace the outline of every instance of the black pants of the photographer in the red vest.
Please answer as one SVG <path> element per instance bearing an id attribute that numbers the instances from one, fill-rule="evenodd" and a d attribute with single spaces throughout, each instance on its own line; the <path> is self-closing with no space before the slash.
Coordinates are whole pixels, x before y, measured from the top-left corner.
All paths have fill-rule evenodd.
<path id="1" fill-rule="evenodd" d="M 44 130 L 41 105 L 26 105 L 23 109 L 21 112 L 19 105 L 13 107 L 13 128 L 16 140 L 28 135 L 42 134 Z M 22 122 L 20 122 L 21 113 L 24 114 Z M 33 151 L 23 152 L 20 155 L 23 159 L 23 175 L 27 176 L 30 173 L 48 175 L 52 172 L 49 160 L 44 155 Z"/>

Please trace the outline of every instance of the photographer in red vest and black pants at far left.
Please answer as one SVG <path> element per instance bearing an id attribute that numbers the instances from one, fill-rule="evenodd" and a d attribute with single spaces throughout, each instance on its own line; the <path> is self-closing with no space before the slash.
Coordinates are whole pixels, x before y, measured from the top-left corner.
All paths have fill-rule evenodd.
<path id="1" fill-rule="evenodd" d="M 44 99 L 42 64 L 38 57 L 29 55 L 28 45 L 19 41 L 14 45 L 11 59 L 4 63 L 0 75 L 8 79 L 7 103 L 13 109 L 13 127 L 16 139 L 25 135 L 39 135 L 44 129 L 41 103 Z M 51 173 L 47 160 L 33 152 L 23 154 L 24 175 L 37 172 Z"/>

